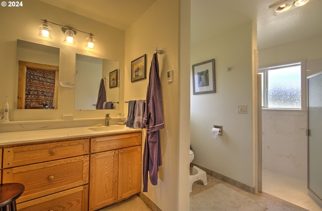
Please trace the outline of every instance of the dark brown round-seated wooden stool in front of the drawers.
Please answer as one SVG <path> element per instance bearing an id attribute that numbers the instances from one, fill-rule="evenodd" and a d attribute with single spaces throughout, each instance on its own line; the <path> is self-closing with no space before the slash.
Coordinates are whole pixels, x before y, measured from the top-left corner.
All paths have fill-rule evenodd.
<path id="1" fill-rule="evenodd" d="M 0 210 L 16 211 L 16 199 L 24 190 L 25 186 L 21 183 L 0 184 Z"/>

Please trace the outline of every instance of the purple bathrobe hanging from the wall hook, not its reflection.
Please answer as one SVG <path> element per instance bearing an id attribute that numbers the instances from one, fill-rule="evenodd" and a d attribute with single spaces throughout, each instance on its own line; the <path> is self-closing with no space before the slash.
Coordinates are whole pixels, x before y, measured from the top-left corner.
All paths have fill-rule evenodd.
<path id="1" fill-rule="evenodd" d="M 147 192 L 148 172 L 152 185 L 157 184 L 158 167 L 162 165 L 159 130 L 165 127 L 162 88 L 157 54 L 153 54 L 147 85 L 143 124 L 146 137 L 143 152 L 143 192 Z"/>

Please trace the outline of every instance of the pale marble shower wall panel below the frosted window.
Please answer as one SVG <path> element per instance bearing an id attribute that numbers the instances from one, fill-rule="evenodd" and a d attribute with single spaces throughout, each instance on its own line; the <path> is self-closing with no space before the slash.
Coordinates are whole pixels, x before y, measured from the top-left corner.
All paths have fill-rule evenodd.
<path id="1" fill-rule="evenodd" d="M 263 168 L 307 179 L 306 111 L 262 111 Z"/>

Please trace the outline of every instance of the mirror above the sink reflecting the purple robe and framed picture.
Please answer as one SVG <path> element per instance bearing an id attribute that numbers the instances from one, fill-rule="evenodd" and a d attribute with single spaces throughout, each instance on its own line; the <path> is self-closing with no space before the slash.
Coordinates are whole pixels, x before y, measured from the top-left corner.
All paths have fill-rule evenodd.
<path id="1" fill-rule="evenodd" d="M 119 109 L 119 61 L 76 54 L 75 68 L 75 110 Z M 97 108 L 102 80 L 106 101 Z"/>

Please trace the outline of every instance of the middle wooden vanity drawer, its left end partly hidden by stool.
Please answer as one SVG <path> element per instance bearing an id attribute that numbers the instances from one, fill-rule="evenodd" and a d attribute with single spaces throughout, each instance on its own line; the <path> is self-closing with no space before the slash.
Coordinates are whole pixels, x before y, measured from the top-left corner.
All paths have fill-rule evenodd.
<path id="1" fill-rule="evenodd" d="M 4 183 L 20 182 L 25 185 L 18 203 L 81 186 L 88 180 L 89 155 L 3 170 Z"/>

